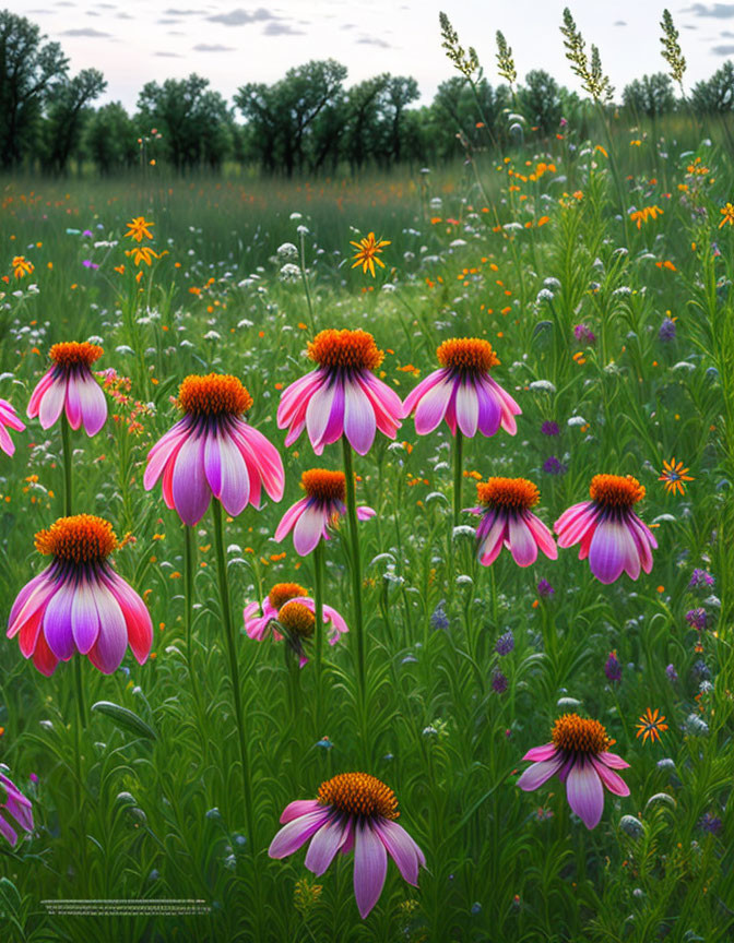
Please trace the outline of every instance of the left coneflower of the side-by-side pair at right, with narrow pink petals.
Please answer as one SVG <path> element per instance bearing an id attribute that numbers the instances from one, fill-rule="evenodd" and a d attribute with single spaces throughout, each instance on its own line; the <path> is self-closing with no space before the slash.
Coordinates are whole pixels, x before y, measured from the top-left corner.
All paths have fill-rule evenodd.
<path id="1" fill-rule="evenodd" d="M 476 482 L 477 508 L 481 514 L 476 528 L 480 563 L 489 566 L 502 547 L 512 553 L 518 566 L 530 566 L 537 559 L 538 548 L 550 560 L 558 557 L 553 535 L 545 524 L 531 513 L 541 493 L 526 478 L 488 478 Z"/>

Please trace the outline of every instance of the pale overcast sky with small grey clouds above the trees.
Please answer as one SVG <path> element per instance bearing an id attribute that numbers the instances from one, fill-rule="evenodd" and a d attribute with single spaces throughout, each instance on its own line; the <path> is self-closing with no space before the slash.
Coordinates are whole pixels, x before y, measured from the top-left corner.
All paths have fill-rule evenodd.
<path id="1" fill-rule="evenodd" d="M 476 47 L 493 83 L 495 31 L 501 29 L 520 76 L 543 68 L 577 87 L 558 32 L 567 3 L 588 46 L 600 47 L 617 95 L 631 79 L 666 68 L 659 41 L 665 0 L 4 2 L 58 39 L 74 72 L 100 69 L 108 81 L 104 100 L 119 99 L 128 108 L 134 108 L 138 92 L 150 80 L 198 72 L 232 98 L 245 82 L 273 82 L 293 65 L 329 57 L 348 67 L 347 84 L 379 72 L 410 74 L 429 100 L 438 84 L 455 74 L 440 46 L 439 10 L 449 14 L 462 43 Z M 734 57 L 734 2 L 667 2 L 688 60 L 688 84 Z"/>

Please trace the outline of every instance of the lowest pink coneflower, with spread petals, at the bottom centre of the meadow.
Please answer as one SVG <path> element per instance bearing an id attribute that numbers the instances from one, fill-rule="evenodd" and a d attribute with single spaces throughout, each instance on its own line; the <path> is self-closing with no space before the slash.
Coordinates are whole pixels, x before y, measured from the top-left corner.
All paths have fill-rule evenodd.
<path id="1" fill-rule="evenodd" d="M 319 787 L 317 799 L 291 802 L 281 815 L 283 828 L 268 854 L 286 858 L 311 839 L 305 864 L 323 874 L 338 851 L 354 849 L 354 896 L 367 917 L 382 893 L 388 855 L 409 884 L 417 886 L 423 851 L 395 820 L 398 800 L 388 786 L 367 773 L 342 773 Z"/>

